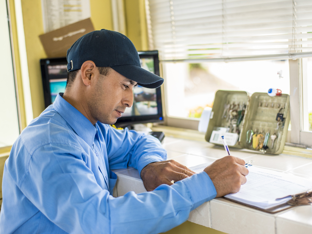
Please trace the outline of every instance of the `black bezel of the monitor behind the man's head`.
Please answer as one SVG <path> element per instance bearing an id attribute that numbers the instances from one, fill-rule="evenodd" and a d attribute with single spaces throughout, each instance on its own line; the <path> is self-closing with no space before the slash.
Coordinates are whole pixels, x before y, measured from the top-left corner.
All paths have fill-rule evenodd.
<path id="1" fill-rule="evenodd" d="M 140 58 L 154 58 L 154 71 L 157 76 L 159 76 L 159 59 L 158 51 L 138 51 Z M 40 60 L 41 66 L 41 76 L 42 76 L 42 86 L 43 95 L 45 101 L 45 107 L 47 108 L 51 105 L 51 92 L 49 83 L 48 66 L 49 65 L 67 65 L 66 57 L 62 58 L 46 58 Z M 125 116 L 117 119 L 115 125 L 122 127 L 137 123 L 152 123 L 152 122 L 163 122 L 163 106 L 161 99 L 161 89 L 156 88 L 156 101 L 157 101 L 157 115 L 135 115 L 135 116 Z"/>

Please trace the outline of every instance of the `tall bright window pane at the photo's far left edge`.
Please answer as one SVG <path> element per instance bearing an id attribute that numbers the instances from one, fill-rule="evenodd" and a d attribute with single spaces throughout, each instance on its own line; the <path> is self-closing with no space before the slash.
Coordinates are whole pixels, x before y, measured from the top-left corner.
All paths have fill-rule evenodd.
<path id="1" fill-rule="evenodd" d="M 17 102 L 6 1 L 0 2 L 0 148 L 10 146 L 19 135 Z"/>

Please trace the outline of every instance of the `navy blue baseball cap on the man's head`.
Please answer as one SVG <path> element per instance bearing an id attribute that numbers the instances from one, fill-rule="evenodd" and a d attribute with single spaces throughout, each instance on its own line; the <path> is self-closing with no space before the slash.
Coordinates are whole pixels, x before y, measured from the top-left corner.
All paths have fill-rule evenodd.
<path id="1" fill-rule="evenodd" d="M 79 70 L 91 60 L 97 67 L 111 67 L 146 88 L 157 88 L 163 78 L 141 68 L 138 51 L 128 37 L 106 29 L 80 37 L 67 50 L 67 71 Z"/>

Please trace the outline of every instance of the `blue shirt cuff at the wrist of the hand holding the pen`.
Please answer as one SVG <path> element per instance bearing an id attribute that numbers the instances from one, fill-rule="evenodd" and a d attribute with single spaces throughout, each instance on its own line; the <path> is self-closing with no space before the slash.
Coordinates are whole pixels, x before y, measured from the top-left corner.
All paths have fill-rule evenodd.
<path id="1" fill-rule="evenodd" d="M 217 191 L 212 180 L 206 172 L 200 172 L 189 178 L 181 180 L 189 190 L 193 209 L 217 196 Z"/>

